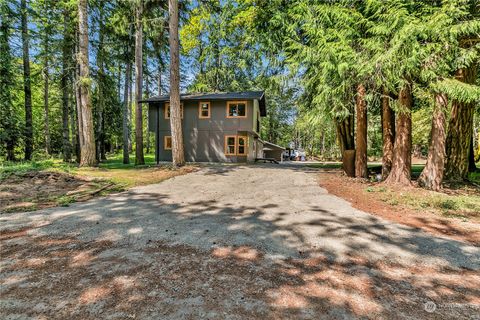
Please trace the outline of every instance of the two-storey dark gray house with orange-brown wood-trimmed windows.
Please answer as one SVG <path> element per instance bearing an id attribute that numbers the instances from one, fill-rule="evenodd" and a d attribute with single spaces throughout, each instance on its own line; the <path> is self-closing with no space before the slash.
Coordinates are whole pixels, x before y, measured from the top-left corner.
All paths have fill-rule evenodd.
<path id="1" fill-rule="evenodd" d="M 148 103 L 148 128 L 155 133 L 155 158 L 172 161 L 169 95 Z M 263 157 L 261 117 L 267 115 L 263 91 L 182 94 L 185 160 L 253 162 Z"/>

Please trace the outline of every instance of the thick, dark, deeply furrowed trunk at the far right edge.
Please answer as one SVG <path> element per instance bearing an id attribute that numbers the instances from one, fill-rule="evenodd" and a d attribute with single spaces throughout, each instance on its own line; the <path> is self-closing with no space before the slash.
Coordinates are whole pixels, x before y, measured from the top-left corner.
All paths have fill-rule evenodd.
<path id="1" fill-rule="evenodd" d="M 466 83 L 475 83 L 477 76 L 476 66 L 457 71 L 458 80 Z M 470 143 L 473 132 L 473 113 L 475 103 L 452 102 L 452 111 L 447 134 L 447 164 L 445 179 L 462 181 L 468 179 Z"/>

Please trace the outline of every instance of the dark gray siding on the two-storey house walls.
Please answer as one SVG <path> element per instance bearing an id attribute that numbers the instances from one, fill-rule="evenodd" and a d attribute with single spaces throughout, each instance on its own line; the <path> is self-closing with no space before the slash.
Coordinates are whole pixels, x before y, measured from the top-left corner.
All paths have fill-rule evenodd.
<path id="1" fill-rule="evenodd" d="M 208 102 L 208 101 L 206 101 Z M 258 103 L 247 101 L 247 117 L 227 118 L 227 101 L 209 101 L 210 118 L 199 118 L 199 102 L 185 101 L 182 128 L 184 134 L 185 158 L 191 162 L 246 162 L 255 159 L 254 124 L 258 116 Z M 164 103 L 150 104 L 149 130 L 159 128 L 159 160 L 171 161 L 171 150 L 165 150 L 164 137 L 170 136 L 170 119 L 164 117 Z M 248 137 L 246 156 L 226 156 L 225 136 L 243 135 Z M 257 151 L 258 152 L 258 151 Z"/>

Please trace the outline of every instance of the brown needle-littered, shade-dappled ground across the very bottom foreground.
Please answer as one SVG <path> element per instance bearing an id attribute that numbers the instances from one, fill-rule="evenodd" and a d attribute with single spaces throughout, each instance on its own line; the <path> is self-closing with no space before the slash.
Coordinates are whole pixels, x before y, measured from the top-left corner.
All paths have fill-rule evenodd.
<path id="1" fill-rule="evenodd" d="M 268 260 L 246 246 L 18 240 L 2 241 L 2 318 L 470 319 L 480 308 L 480 277 L 461 269 Z"/>

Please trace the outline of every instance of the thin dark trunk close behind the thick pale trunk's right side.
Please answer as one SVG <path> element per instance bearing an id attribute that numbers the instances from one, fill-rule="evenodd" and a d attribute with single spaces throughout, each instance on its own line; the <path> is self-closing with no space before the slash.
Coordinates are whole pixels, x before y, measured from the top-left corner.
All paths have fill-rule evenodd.
<path id="1" fill-rule="evenodd" d="M 103 23 L 103 9 L 100 9 L 99 14 L 99 35 L 98 35 L 98 52 L 97 52 L 97 66 L 98 66 L 98 101 L 97 101 L 97 135 L 96 135 L 96 150 L 97 160 L 106 160 L 105 155 L 105 128 L 104 128 L 104 112 L 105 112 L 105 50 L 104 50 L 104 36 L 105 27 Z"/>

